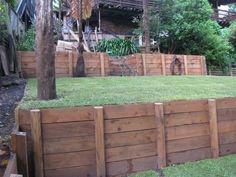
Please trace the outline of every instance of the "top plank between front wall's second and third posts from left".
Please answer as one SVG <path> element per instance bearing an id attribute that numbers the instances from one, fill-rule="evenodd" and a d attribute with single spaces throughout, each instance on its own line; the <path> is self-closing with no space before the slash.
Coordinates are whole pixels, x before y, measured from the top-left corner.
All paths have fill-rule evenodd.
<path id="1" fill-rule="evenodd" d="M 128 104 L 104 106 L 105 119 L 154 115 L 153 104 Z"/>

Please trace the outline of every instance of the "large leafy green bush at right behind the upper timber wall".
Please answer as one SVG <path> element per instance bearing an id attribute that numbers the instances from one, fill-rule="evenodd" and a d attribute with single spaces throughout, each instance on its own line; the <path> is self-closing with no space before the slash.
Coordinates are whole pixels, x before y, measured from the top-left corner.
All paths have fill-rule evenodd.
<path id="1" fill-rule="evenodd" d="M 160 9 L 150 10 L 150 30 L 162 52 L 205 55 L 210 68 L 225 69 L 229 65 L 232 48 L 221 35 L 221 27 L 211 18 L 213 10 L 208 0 L 156 3 Z"/>

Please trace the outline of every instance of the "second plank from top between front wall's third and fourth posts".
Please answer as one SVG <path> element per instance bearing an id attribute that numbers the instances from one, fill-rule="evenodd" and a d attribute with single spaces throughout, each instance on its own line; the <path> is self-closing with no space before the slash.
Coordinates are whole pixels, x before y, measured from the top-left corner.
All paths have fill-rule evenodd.
<path id="1" fill-rule="evenodd" d="M 166 127 L 208 123 L 208 112 L 188 112 L 165 115 Z"/>

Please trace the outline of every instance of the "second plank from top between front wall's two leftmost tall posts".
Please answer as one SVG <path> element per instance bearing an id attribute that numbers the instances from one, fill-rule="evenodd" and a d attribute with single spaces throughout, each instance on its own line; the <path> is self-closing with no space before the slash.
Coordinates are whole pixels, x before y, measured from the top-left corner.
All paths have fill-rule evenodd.
<path id="1" fill-rule="evenodd" d="M 94 122 L 43 124 L 42 130 L 44 139 L 89 136 L 94 135 Z"/>

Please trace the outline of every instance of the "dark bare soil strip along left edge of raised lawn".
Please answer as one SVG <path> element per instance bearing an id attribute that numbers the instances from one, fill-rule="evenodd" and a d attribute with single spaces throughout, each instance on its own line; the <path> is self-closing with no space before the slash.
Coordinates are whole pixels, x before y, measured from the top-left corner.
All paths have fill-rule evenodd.
<path id="1" fill-rule="evenodd" d="M 9 144 L 15 123 L 14 110 L 24 95 L 26 81 L 15 76 L 1 77 L 0 80 L 0 136 Z"/>

